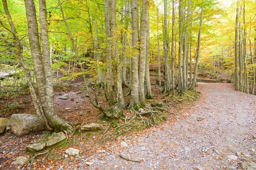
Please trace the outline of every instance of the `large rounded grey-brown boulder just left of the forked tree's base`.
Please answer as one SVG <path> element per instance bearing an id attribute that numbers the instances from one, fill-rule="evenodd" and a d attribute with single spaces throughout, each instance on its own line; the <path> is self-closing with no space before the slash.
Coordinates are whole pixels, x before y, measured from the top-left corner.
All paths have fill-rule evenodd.
<path id="1" fill-rule="evenodd" d="M 17 136 L 45 130 L 38 116 L 32 114 L 13 114 L 7 125 L 11 128 L 12 133 Z"/>

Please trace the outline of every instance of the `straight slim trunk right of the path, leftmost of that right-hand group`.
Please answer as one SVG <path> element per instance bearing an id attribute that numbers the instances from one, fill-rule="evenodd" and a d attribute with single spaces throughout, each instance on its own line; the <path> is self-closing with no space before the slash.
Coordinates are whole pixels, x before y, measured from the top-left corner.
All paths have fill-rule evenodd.
<path id="1" fill-rule="evenodd" d="M 236 79 L 236 91 L 240 90 L 240 79 L 239 79 L 239 0 L 237 0 L 237 8 L 236 8 L 236 38 L 235 38 L 235 79 Z"/>

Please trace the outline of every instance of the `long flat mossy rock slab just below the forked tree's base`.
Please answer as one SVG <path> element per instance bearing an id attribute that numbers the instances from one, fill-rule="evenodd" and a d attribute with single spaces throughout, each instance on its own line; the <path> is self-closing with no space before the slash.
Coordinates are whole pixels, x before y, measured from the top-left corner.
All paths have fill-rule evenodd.
<path id="1" fill-rule="evenodd" d="M 66 139 L 63 132 L 55 133 L 52 136 L 44 139 L 41 142 L 36 142 L 26 146 L 26 152 L 39 152 L 49 147 L 53 147 L 56 144 L 61 143 Z"/>

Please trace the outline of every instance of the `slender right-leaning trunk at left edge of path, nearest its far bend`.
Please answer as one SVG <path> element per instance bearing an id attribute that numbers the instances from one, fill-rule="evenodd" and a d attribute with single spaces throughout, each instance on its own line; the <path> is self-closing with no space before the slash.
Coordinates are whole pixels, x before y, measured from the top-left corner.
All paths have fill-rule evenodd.
<path id="1" fill-rule="evenodd" d="M 199 26 L 199 32 L 198 32 L 198 46 L 197 46 L 197 54 L 196 54 L 196 60 L 195 60 L 194 77 L 193 77 L 193 81 L 192 81 L 192 84 L 189 89 L 193 89 L 197 82 L 198 63 L 199 63 L 199 58 L 200 58 L 200 47 L 201 47 L 202 25 L 203 25 L 203 8 L 201 8 L 201 18 L 200 18 L 200 26 Z"/>

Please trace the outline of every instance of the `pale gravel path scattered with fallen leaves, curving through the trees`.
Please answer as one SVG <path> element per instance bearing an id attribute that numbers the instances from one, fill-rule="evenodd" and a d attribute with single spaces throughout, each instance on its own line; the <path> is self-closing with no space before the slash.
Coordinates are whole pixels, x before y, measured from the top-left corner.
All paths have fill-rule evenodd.
<path id="1" fill-rule="evenodd" d="M 92 161 L 90 169 L 110 170 L 238 170 L 239 162 L 256 161 L 256 96 L 224 83 L 198 83 L 196 90 L 202 98 L 186 110 L 189 116 L 178 118 L 174 125 L 166 122 L 142 137 L 127 137 L 109 148 L 114 152 L 106 150 L 79 164 Z M 127 161 L 119 153 L 143 161 Z M 238 155 L 237 160 L 230 160 L 230 155 Z"/>

